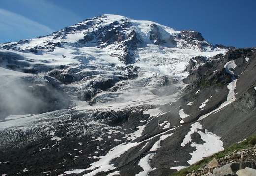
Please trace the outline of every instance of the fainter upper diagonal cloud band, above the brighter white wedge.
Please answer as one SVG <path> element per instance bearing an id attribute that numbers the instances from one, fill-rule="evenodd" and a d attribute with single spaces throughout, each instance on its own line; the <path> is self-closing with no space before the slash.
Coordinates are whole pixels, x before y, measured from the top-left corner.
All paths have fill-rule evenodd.
<path id="1" fill-rule="evenodd" d="M 51 26 L 55 30 L 63 29 L 83 20 L 75 12 L 64 8 L 61 0 L 5 0 L 5 3 L 4 9 Z"/>

